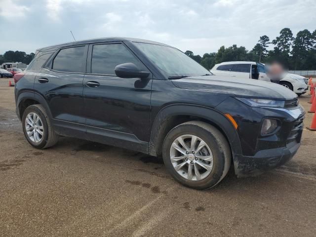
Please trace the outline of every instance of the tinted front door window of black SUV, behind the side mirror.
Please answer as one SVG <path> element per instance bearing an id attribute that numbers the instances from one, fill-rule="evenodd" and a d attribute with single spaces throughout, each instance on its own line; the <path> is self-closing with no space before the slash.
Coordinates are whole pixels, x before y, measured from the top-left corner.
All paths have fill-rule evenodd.
<path id="1" fill-rule="evenodd" d="M 137 66 L 140 64 L 123 44 L 93 45 L 91 73 L 115 75 L 115 67 L 122 63 L 134 63 Z"/>

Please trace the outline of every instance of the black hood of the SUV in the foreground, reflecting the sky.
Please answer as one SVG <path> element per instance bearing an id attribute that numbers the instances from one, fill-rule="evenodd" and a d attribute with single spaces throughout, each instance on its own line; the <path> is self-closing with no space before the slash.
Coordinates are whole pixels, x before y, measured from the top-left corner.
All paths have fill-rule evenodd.
<path id="1" fill-rule="evenodd" d="M 297 97 L 293 91 L 282 85 L 255 79 L 237 79 L 211 75 L 173 79 L 172 82 L 179 88 L 228 93 L 239 97 L 276 100 L 290 100 Z"/>

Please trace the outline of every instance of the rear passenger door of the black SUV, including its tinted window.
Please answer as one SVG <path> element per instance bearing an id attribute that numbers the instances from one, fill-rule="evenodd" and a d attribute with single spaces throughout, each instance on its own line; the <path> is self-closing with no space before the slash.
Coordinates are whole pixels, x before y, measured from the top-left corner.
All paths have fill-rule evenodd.
<path id="1" fill-rule="evenodd" d="M 61 48 L 35 78 L 34 89 L 47 101 L 53 123 L 64 135 L 76 135 L 73 134 L 76 130 L 79 135 L 85 132 L 82 83 L 87 48 L 87 45 Z"/>

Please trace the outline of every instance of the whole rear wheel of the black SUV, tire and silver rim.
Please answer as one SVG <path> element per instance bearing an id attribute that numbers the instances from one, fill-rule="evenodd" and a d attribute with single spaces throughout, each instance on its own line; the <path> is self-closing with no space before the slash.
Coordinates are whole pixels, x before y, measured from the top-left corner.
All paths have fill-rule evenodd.
<path id="1" fill-rule="evenodd" d="M 35 148 L 45 149 L 55 145 L 58 134 L 42 105 L 31 105 L 23 113 L 23 132 L 27 141 Z"/>

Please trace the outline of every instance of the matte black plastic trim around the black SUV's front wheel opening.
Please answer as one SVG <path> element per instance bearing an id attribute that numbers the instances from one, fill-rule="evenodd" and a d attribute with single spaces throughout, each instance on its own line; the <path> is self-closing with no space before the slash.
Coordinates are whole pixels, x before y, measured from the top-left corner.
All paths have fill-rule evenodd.
<path id="1" fill-rule="evenodd" d="M 241 145 L 237 131 L 231 121 L 226 118 L 222 113 L 204 106 L 191 105 L 191 104 L 174 104 L 161 109 L 156 116 L 151 129 L 151 137 L 149 142 L 149 154 L 152 156 L 159 155 L 158 151 L 161 147 L 158 145 L 160 131 L 166 128 L 168 119 L 175 116 L 194 116 L 203 118 L 220 128 L 224 135 L 227 137 L 231 146 L 233 158 L 237 158 L 241 154 Z"/>

